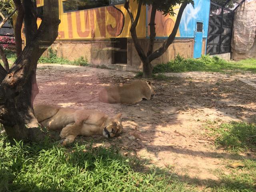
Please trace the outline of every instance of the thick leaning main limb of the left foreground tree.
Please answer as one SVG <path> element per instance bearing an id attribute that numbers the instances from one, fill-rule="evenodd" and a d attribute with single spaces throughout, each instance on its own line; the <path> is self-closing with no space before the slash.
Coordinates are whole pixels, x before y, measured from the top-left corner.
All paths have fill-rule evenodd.
<path id="1" fill-rule="evenodd" d="M 58 12 L 58 0 L 44 0 L 44 18 L 30 44 L 26 44 L 24 50 L 14 62 L 9 71 L 9 78 L 5 78 L 6 84 L 13 88 L 21 88 L 16 84 L 26 84 L 36 67 L 38 59 L 58 36 L 58 24 L 60 24 Z M 16 90 L 20 92 L 20 90 Z"/>

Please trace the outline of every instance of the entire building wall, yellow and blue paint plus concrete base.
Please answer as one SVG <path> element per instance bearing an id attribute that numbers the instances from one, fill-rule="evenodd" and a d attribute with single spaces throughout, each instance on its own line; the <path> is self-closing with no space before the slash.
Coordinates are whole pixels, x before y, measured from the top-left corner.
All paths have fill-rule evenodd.
<path id="1" fill-rule="evenodd" d="M 42 0 L 37 2 L 37 6 L 43 5 Z M 121 66 L 125 70 L 142 70 L 142 62 L 130 36 L 130 17 L 124 9 L 124 4 L 64 13 L 62 2 L 63 0 L 60 0 L 59 36 L 52 45 L 59 57 L 74 60 L 84 56 L 92 65 L 106 65 L 113 68 Z M 137 3 L 136 1 L 130 1 L 130 3 L 135 16 Z M 159 48 L 171 34 L 179 9 L 180 5 L 174 7 L 176 13 L 174 16 L 164 16 L 161 12 L 157 12 L 155 49 Z M 152 64 L 166 63 L 174 59 L 177 54 L 185 58 L 193 58 L 194 32 L 198 21 L 203 22 L 202 54 L 205 54 L 209 9 L 210 0 L 194 0 L 194 6 L 189 4 L 182 14 L 176 39 Z M 145 52 L 147 52 L 150 35 L 148 27 L 150 13 L 150 6 L 142 7 L 136 28 Z M 40 20 L 38 20 L 39 24 Z M 122 37 L 128 38 L 127 65 L 112 64 L 110 38 Z"/>

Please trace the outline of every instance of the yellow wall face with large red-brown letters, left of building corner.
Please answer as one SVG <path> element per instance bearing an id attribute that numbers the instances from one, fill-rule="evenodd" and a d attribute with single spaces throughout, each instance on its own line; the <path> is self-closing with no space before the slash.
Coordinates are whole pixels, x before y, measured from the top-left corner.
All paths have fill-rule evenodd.
<path id="1" fill-rule="evenodd" d="M 130 16 L 127 14 L 124 4 L 64 13 L 62 1 L 59 1 L 61 20 L 58 30 L 59 39 L 130 37 Z M 37 6 L 42 6 L 40 0 L 36 2 Z M 135 15 L 136 2 L 131 2 L 131 9 Z M 40 20 L 38 20 L 38 24 L 40 24 Z M 137 26 L 138 37 L 145 37 L 145 26 L 146 7 L 144 6 Z"/>

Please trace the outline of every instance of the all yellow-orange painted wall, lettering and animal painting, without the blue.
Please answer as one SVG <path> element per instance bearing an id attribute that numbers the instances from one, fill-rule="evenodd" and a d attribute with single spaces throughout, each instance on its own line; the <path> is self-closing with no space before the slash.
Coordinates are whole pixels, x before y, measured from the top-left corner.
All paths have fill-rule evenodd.
<path id="1" fill-rule="evenodd" d="M 124 4 L 115 6 L 100 7 L 88 10 L 63 12 L 62 2 L 59 1 L 60 25 L 57 39 L 93 39 L 93 38 L 130 38 L 130 16 L 124 8 Z M 43 0 L 36 0 L 37 6 L 43 6 Z M 138 4 L 136 0 L 130 1 L 130 8 L 134 17 L 136 16 Z M 180 5 L 174 7 L 174 16 L 164 16 L 161 12 L 156 12 L 155 27 L 157 37 L 168 37 L 174 28 Z M 146 12 L 148 17 L 146 19 Z M 150 22 L 151 6 L 142 6 L 140 19 L 136 27 L 138 38 L 145 38 L 150 35 L 146 34 L 146 25 Z M 147 21 L 146 21 L 147 20 Z M 41 20 L 38 19 L 38 26 Z M 180 37 L 180 30 L 176 34 Z"/>

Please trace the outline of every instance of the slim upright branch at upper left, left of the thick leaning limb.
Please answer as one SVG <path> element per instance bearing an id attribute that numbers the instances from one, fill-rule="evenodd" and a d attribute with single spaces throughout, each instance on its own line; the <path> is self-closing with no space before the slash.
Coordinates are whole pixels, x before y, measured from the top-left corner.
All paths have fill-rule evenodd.
<path id="1" fill-rule="evenodd" d="M 18 57 L 20 53 L 22 52 L 22 38 L 21 38 L 21 28 L 24 18 L 24 10 L 22 7 L 22 3 L 20 0 L 13 0 L 16 9 L 18 11 L 17 18 L 16 18 L 16 24 L 14 28 L 14 35 L 15 35 L 15 48 L 16 48 L 16 56 Z"/>

